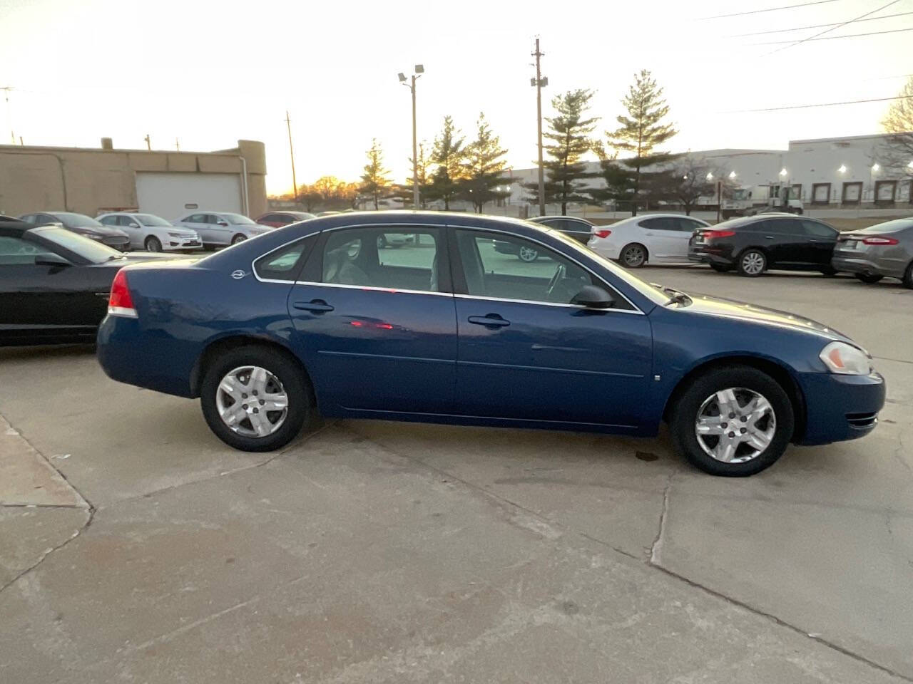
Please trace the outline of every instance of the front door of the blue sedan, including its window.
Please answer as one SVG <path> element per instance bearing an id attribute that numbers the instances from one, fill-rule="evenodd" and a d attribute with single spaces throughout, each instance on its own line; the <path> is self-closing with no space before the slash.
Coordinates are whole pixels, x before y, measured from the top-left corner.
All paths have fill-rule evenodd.
<path id="1" fill-rule="evenodd" d="M 635 428 L 652 362 L 647 316 L 579 264 L 506 233 L 455 230 L 456 410 L 467 416 Z M 493 238 L 530 246 L 522 262 Z M 611 309 L 571 305 L 583 285 Z"/>

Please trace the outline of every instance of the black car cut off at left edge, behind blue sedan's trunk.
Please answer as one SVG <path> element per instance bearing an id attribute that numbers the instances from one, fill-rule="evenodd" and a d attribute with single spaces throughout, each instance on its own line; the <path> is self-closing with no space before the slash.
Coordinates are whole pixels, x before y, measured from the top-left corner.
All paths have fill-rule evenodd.
<path id="1" fill-rule="evenodd" d="M 59 226 L 0 220 L 0 347 L 94 342 L 126 255 Z"/>

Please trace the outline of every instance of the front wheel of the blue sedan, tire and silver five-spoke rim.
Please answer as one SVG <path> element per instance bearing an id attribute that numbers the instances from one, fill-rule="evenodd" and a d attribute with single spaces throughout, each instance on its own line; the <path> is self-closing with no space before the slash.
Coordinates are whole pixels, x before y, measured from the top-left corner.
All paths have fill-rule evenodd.
<path id="1" fill-rule="evenodd" d="M 792 402 L 757 368 L 730 366 L 692 380 L 671 410 L 676 451 L 711 475 L 744 477 L 782 456 L 792 439 Z"/>

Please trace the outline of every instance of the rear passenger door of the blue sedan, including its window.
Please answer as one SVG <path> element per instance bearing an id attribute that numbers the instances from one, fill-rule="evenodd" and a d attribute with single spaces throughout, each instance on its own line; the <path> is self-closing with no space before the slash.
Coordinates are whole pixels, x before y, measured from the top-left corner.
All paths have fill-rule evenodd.
<path id="1" fill-rule="evenodd" d="M 378 247 L 403 233 L 414 237 L 397 249 Z M 450 289 L 440 227 L 321 233 L 289 293 L 295 345 L 320 389 L 321 409 L 366 417 L 452 412 L 456 319 Z"/>

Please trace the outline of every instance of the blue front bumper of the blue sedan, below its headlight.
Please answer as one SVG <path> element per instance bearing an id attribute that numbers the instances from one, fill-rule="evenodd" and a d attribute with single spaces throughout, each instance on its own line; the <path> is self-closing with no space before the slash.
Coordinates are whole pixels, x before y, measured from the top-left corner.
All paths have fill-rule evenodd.
<path id="1" fill-rule="evenodd" d="M 801 444 L 856 440 L 875 430 L 885 405 L 885 378 L 835 373 L 800 373 L 805 397 L 805 431 Z"/>

